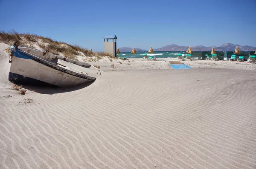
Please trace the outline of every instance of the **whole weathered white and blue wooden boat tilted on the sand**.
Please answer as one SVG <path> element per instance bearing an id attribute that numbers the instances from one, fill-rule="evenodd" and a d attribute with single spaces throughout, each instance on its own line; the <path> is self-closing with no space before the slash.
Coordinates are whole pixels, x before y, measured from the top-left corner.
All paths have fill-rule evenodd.
<path id="1" fill-rule="evenodd" d="M 96 80 L 99 71 L 90 64 L 32 48 L 10 47 L 9 81 L 20 85 L 75 86 Z"/>

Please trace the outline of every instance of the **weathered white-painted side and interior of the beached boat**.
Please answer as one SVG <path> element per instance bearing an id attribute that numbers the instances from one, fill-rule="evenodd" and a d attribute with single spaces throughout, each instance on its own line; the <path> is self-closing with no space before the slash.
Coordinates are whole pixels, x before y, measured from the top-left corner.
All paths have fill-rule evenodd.
<path id="1" fill-rule="evenodd" d="M 33 56 L 38 56 L 39 58 L 44 59 L 44 61 L 49 64 L 68 70 L 71 73 L 79 74 L 81 76 L 87 76 L 90 79 L 96 79 L 95 76 L 89 75 L 97 75 L 98 69 L 91 66 L 90 64 L 74 61 L 71 59 L 66 59 L 64 61 L 63 57 L 52 54 L 46 54 L 45 56 L 43 56 L 43 51 L 38 51 L 30 48 L 23 48 L 23 50 L 29 52 L 29 54 L 32 54 Z M 87 68 L 76 64 L 86 66 Z M 91 82 L 91 80 L 89 79 L 83 79 L 68 73 L 64 73 L 60 70 L 55 70 L 32 59 L 23 59 L 15 56 L 12 57 L 10 72 L 60 87 L 75 86 L 82 83 Z M 86 75 L 86 73 L 88 75 Z"/>

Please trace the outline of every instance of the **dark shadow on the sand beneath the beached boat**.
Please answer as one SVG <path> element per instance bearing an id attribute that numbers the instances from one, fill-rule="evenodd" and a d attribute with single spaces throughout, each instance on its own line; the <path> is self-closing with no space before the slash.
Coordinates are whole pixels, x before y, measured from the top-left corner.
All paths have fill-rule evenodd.
<path id="1" fill-rule="evenodd" d="M 34 91 L 36 93 L 51 95 L 56 93 L 65 93 L 65 92 L 72 92 L 75 90 L 79 90 L 79 89 L 90 86 L 91 84 L 93 84 L 93 82 L 87 82 L 85 84 L 81 84 L 73 87 L 45 87 L 45 86 L 23 85 L 22 88 L 26 90 Z"/>

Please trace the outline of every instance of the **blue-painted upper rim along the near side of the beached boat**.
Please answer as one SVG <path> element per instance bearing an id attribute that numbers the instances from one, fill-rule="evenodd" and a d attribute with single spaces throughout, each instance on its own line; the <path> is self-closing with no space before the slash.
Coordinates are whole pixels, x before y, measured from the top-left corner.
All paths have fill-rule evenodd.
<path id="1" fill-rule="evenodd" d="M 12 45 L 12 47 L 10 48 L 10 51 L 12 52 L 12 56 L 23 58 L 23 59 L 32 59 L 35 62 L 39 62 L 39 63 L 41 63 L 43 65 L 46 65 L 46 66 L 48 66 L 50 68 L 53 68 L 55 70 L 59 70 L 61 72 L 70 74 L 72 76 L 79 77 L 81 79 L 87 79 L 87 80 L 91 80 L 91 81 L 95 81 L 96 80 L 96 78 L 91 78 L 91 77 L 88 77 L 88 76 L 82 76 L 82 75 L 77 74 L 77 73 L 72 73 L 70 70 L 63 69 L 63 68 L 61 68 L 59 66 L 49 64 L 49 63 L 47 63 L 47 61 L 44 61 L 44 59 L 37 59 L 37 58 L 35 58 L 33 56 L 29 56 L 28 54 L 25 54 L 23 51 L 20 51 L 14 45 Z"/>

